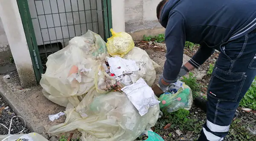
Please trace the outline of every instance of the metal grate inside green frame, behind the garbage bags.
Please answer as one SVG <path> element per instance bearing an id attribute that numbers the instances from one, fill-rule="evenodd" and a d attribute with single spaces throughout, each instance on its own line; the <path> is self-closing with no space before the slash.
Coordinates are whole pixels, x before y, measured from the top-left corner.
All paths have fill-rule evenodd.
<path id="1" fill-rule="evenodd" d="M 102 0 L 28 0 L 28 4 L 44 69 L 47 57 L 71 38 L 87 30 L 105 38 Z"/>

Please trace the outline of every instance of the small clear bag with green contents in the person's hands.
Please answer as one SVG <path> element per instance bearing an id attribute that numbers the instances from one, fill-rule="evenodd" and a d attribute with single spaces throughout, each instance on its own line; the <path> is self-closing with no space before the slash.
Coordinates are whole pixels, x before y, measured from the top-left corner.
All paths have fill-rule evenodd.
<path id="1" fill-rule="evenodd" d="M 193 96 L 189 86 L 183 83 L 183 86 L 178 89 L 177 93 L 164 93 L 160 95 L 160 109 L 166 109 L 167 112 L 175 112 L 179 109 L 189 110 L 192 107 Z"/>

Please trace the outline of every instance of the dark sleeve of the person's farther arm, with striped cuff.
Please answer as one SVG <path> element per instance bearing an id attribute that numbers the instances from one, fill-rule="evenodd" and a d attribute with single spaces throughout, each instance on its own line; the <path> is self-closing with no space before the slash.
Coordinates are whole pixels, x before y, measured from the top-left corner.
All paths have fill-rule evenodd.
<path id="1" fill-rule="evenodd" d="M 205 43 L 200 44 L 200 48 L 189 60 L 189 63 L 195 68 L 199 68 L 213 53 L 215 49 L 208 47 Z"/>

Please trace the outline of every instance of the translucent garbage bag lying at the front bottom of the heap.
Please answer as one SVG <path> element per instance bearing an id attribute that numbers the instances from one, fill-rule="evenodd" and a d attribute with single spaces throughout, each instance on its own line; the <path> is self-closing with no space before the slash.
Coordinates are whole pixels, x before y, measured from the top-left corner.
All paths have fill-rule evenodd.
<path id="1" fill-rule="evenodd" d="M 93 98 L 94 95 L 95 98 Z M 74 109 L 65 111 L 66 121 L 49 129 L 51 134 L 78 129 L 82 141 L 134 141 L 145 129 L 157 122 L 159 105 L 152 106 L 140 116 L 123 92 L 87 93 Z"/>

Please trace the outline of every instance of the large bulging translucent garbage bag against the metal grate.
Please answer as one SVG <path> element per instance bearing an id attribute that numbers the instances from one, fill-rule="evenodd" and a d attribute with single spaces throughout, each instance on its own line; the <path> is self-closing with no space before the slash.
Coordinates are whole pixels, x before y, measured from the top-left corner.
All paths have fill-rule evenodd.
<path id="1" fill-rule="evenodd" d="M 95 86 L 95 72 L 108 56 L 105 41 L 90 30 L 81 37 L 74 37 L 68 46 L 49 55 L 47 70 L 40 84 L 44 95 L 52 102 L 77 106 L 90 89 Z M 78 71 L 70 75 L 76 66 Z"/>

